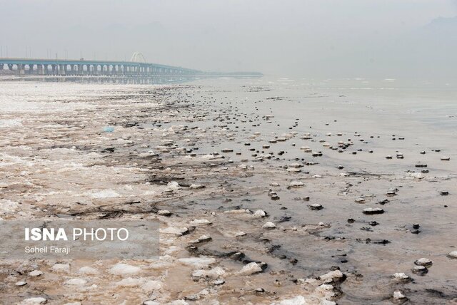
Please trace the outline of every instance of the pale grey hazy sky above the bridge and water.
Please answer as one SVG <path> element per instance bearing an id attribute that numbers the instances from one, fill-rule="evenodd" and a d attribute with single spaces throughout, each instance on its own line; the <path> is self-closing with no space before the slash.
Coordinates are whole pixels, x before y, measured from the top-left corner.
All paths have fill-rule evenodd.
<path id="1" fill-rule="evenodd" d="M 452 0 L 0 0 L 0 14 L 9 57 L 140 51 L 201 70 L 330 78 L 446 78 L 457 63 Z"/>

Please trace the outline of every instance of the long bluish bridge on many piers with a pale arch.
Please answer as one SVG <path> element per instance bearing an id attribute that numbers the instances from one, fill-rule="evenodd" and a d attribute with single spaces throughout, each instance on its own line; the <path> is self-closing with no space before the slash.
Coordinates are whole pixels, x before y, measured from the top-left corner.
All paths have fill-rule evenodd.
<path id="1" fill-rule="evenodd" d="M 195 76 L 201 71 L 175 66 L 146 63 L 144 56 L 136 52 L 130 61 L 96 61 L 39 58 L 0 58 L 0 73 L 11 71 L 19 75 L 39 76 L 166 76 L 179 78 Z"/>

